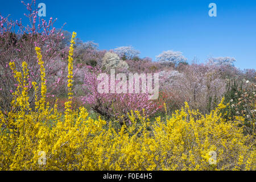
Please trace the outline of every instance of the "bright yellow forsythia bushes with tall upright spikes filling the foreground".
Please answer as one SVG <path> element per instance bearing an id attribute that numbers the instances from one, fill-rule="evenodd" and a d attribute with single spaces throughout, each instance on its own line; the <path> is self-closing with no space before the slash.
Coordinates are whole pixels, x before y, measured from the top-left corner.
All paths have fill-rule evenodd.
<path id="1" fill-rule="evenodd" d="M 36 48 L 41 71 L 41 94 L 35 90 L 35 109 L 28 102 L 28 68 L 15 70 L 19 83 L 13 109 L 0 111 L 1 170 L 255 170 L 255 136 L 243 134 L 238 127 L 243 118 L 224 121 L 221 104 L 209 115 L 189 106 L 170 119 L 155 122 L 131 111 L 129 126 L 116 130 L 114 123 L 89 117 L 84 107 L 72 110 L 72 55 L 76 34 L 69 51 L 69 100 L 65 113 L 50 109 L 44 63 Z"/>

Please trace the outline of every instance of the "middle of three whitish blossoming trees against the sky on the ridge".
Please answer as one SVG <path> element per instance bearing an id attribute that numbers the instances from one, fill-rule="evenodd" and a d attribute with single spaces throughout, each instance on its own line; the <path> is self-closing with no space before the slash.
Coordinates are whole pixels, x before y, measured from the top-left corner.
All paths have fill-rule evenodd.
<path id="1" fill-rule="evenodd" d="M 187 61 L 187 59 L 179 51 L 163 51 L 160 55 L 156 56 L 156 60 L 162 63 L 177 65 Z"/>

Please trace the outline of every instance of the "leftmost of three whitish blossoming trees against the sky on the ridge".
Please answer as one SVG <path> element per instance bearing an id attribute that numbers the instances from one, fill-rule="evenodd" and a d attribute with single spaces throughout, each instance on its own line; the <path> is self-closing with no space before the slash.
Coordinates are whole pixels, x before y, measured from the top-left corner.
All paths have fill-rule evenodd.
<path id="1" fill-rule="evenodd" d="M 132 60 L 141 53 L 135 50 L 131 46 L 123 46 L 123 47 L 115 48 L 114 52 L 117 53 L 118 56 L 122 57 L 123 60 Z"/>

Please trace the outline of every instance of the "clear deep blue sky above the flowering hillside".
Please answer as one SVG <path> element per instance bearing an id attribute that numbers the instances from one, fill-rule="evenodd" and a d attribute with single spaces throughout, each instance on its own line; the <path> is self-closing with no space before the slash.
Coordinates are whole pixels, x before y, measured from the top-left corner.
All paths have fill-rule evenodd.
<path id="1" fill-rule="evenodd" d="M 31 1 L 24 1 L 31 2 Z M 236 67 L 256 69 L 256 1 L 168 0 L 101 1 L 40 0 L 46 4 L 46 19 L 58 18 L 55 26 L 76 31 L 84 42 L 94 40 L 100 49 L 133 46 L 141 57 L 162 51 L 181 51 L 190 61 L 209 56 L 230 56 Z M 217 17 L 208 15 L 208 5 L 217 5 Z M 24 18 L 27 10 L 18 0 L 1 0 L 0 13 Z"/>

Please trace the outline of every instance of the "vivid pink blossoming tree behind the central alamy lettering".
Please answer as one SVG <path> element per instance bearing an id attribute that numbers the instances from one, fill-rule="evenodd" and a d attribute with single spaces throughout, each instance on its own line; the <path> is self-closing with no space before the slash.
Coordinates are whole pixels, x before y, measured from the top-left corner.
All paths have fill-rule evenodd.
<path id="1" fill-rule="evenodd" d="M 88 104 L 96 113 L 103 115 L 106 119 L 119 120 L 122 118 L 127 122 L 129 119 L 127 113 L 131 110 L 144 112 L 147 116 L 152 116 L 158 110 L 155 102 L 148 100 L 147 93 L 99 93 L 97 88 L 100 80 L 97 80 L 97 76 L 100 73 L 102 73 L 101 69 L 87 70 L 83 86 L 85 96 L 82 97 L 82 101 L 84 101 L 84 104 Z M 118 81 L 115 81 L 115 84 L 117 83 Z M 120 122 L 123 123 L 122 120 Z"/>

